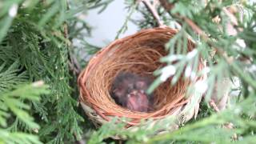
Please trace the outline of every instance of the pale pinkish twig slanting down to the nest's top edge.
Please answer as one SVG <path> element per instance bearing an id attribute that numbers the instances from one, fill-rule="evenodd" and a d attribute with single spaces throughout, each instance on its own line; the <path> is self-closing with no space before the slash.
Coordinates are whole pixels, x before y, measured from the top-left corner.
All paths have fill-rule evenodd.
<path id="1" fill-rule="evenodd" d="M 146 6 L 146 8 L 150 11 L 150 13 L 153 15 L 154 19 L 158 22 L 158 26 L 162 27 L 164 26 L 161 18 L 159 17 L 159 14 L 156 10 L 156 0 L 154 0 L 154 3 L 151 4 L 150 0 L 142 0 L 142 2 L 144 3 L 144 5 Z"/>

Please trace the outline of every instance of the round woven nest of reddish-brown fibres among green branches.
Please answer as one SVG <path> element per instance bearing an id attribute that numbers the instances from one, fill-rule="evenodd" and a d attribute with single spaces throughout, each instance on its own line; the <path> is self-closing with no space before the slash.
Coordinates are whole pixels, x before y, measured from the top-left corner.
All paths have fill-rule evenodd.
<path id="1" fill-rule="evenodd" d="M 82 108 L 96 126 L 114 117 L 130 118 L 128 126 L 138 125 L 141 119 L 157 120 L 167 115 L 178 116 L 186 122 L 198 113 L 198 103 L 201 99 L 193 95 L 185 98 L 190 81 L 184 78 L 180 78 L 174 86 L 170 86 L 171 78 L 158 86 L 154 90 L 154 110 L 148 113 L 131 111 L 119 106 L 110 96 L 112 82 L 120 72 L 154 78 L 154 70 L 164 66 L 159 62 L 159 58 L 168 54 L 164 48 L 165 44 L 176 33 L 177 30 L 170 28 L 142 30 L 112 42 L 91 58 L 86 69 L 79 75 L 78 86 Z M 194 43 L 188 40 L 187 47 L 188 51 L 193 50 Z M 199 62 L 198 69 L 201 70 L 203 66 L 203 62 Z M 192 100 L 195 105 L 186 108 Z M 190 112 L 187 112 L 188 109 Z"/>

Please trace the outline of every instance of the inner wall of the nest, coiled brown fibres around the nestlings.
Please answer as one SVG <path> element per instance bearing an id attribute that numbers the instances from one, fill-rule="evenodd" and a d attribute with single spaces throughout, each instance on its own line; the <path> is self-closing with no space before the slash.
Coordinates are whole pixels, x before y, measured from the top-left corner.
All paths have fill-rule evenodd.
<path id="1" fill-rule="evenodd" d="M 168 53 L 164 45 L 170 37 L 162 38 L 130 38 L 111 47 L 101 58 L 101 62 L 91 72 L 86 82 L 90 94 L 100 98 L 92 101 L 99 104 L 108 114 L 132 114 L 136 111 L 127 110 L 118 106 L 111 98 L 110 90 L 114 78 L 121 72 L 130 72 L 143 77 L 154 79 L 153 72 L 164 66 L 159 59 Z M 154 90 L 154 110 L 158 115 L 170 114 L 176 109 L 178 103 L 185 101 L 186 86 L 188 82 L 180 79 L 175 86 L 170 86 L 170 79 Z M 177 105 L 177 106 L 176 106 Z M 175 107 L 176 106 L 176 107 Z"/>

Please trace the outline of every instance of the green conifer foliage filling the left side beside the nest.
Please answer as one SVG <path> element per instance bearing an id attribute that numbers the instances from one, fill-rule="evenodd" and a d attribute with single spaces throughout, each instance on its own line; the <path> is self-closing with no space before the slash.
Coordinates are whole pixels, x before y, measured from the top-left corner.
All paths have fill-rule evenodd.
<path id="1" fill-rule="evenodd" d="M 50 94 L 40 102 L 27 99 L 24 105 L 7 99 L 6 104 L 17 117 L 1 113 L 4 118 L 10 116 L 12 119 L 8 123 L 2 119 L 2 123 L 9 126 L 2 134 L 12 134 L 16 142 L 23 138 L 22 143 L 38 142 L 30 135 L 34 131 L 42 142 L 74 142 L 81 138 L 83 126 L 79 126 L 79 122 L 83 122 L 83 118 L 78 114 L 78 92 L 74 87 L 77 78 L 70 75 L 68 64 L 73 54 L 70 49 L 76 48 L 70 43 L 74 38 L 82 39 L 84 29 L 90 34 L 90 26 L 76 14 L 96 7 L 104 10 L 110 2 L 0 1 L 0 92 L 10 92 L 18 84 L 38 80 L 50 86 Z M 82 27 L 78 28 L 77 23 L 83 23 Z M 87 43 L 84 46 L 91 47 L 94 52 L 98 49 Z M 33 92 L 36 91 L 30 93 Z M 23 109 L 29 113 L 24 113 Z"/>

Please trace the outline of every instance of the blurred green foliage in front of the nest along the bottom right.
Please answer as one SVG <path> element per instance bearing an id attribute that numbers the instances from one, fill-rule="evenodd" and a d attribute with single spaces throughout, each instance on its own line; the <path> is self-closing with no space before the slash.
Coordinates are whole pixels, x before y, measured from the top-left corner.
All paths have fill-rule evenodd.
<path id="1" fill-rule="evenodd" d="M 256 137 L 254 131 L 255 122 L 255 93 L 251 93 L 245 101 L 236 106 L 231 106 L 218 114 L 212 114 L 209 117 L 192 122 L 186 126 L 171 133 L 168 132 L 170 126 L 174 124 L 173 117 L 163 118 L 157 123 L 152 121 L 142 122 L 142 126 L 138 126 L 135 130 L 126 130 L 125 123 L 114 124 L 117 119 L 102 126 L 97 132 L 94 132 L 89 143 L 102 142 L 103 138 L 110 136 L 118 136 L 128 138 L 126 143 L 170 143 L 170 142 L 216 142 L 230 143 L 234 141 L 232 138 L 238 134 L 238 140 L 234 142 L 255 142 Z M 226 128 L 229 123 L 234 124 L 234 128 Z M 154 133 L 156 131 L 166 130 L 164 134 Z M 171 130 L 170 130 L 171 131 Z"/>

